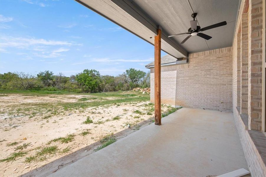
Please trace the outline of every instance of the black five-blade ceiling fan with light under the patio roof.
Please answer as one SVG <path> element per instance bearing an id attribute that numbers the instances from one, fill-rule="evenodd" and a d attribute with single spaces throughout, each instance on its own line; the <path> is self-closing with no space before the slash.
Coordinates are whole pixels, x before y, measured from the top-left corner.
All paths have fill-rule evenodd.
<path id="1" fill-rule="evenodd" d="M 185 43 L 188 38 L 190 38 L 191 36 L 199 36 L 199 37 L 202 37 L 206 40 L 209 40 L 211 39 L 212 37 L 211 36 L 208 36 L 206 34 L 203 34 L 202 31 L 206 31 L 206 30 L 210 30 L 212 28 L 217 28 L 217 27 L 220 27 L 220 26 L 224 26 L 226 25 L 226 21 L 224 22 L 220 22 L 220 23 L 216 23 L 216 24 L 213 24 L 213 25 L 210 25 L 210 26 L 207 26 L 207 27 L 204 27 L 204 28 L 201 28 L 200 26 L 197 26 L 197 20 L 195 20 L 195 17 L 197 16 L 197 13 L 194 13 L 191 15 L 191 17 L 194 19 L 192 21 L 190 21 L 190 25 L 191 25 L 191 28 L 188 29 L 188 32 L 185 32 L 185 33 L 180 33 L 180 34 L 175 34 L 175 35 L 170 35 L 168 37 L 173 37 L 173 36 L 177 36 L 177 35 L 185 35 L 185 34 L 189 34 L 188 37 L 186 37 L 180 44 L 183 44 Z"/>

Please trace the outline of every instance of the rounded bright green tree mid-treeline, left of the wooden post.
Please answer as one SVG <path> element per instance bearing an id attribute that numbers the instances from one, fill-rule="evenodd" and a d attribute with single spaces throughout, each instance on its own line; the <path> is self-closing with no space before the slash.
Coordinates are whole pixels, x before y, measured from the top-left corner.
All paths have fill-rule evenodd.
<path id="1" fill-rule="evenodd" d="M 84 87 L 84 91 L 94 93 L 99 90 L 100 73 L 94 69 L 85 69 L 82 73 L 76 75 L 76 81 Z"/>

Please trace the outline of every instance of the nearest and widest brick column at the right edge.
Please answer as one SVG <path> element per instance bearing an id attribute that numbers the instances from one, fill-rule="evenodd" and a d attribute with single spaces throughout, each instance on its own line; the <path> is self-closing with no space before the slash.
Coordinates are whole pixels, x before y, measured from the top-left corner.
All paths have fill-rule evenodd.
<path id="1" fill-rule="evenodd" d="M 262 0 L 249 0 L 249 129 L 262 130 Z"/>

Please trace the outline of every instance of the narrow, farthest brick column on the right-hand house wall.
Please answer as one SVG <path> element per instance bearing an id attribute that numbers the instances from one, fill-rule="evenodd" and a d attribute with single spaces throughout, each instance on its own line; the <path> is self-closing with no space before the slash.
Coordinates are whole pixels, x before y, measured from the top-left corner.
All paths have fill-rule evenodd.
<path id="1" fill-rule="evenodd" d="M 241 94 L 241 32 L 237 33 L 237 107 L 240 107 Z"/>

